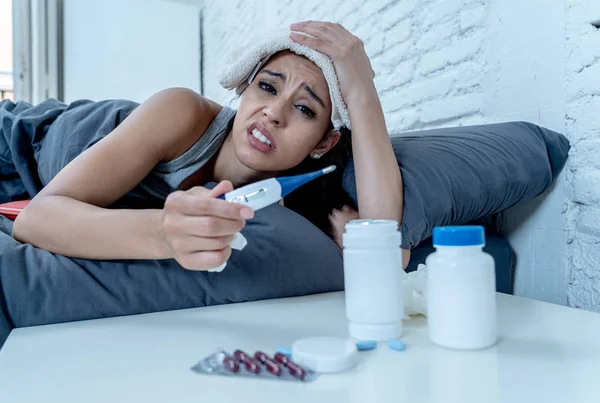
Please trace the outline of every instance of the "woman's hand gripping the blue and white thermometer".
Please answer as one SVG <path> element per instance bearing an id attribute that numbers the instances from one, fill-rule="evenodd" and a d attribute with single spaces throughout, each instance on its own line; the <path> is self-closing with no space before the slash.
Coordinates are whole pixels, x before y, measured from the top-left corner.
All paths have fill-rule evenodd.
<path id="1" fill-rule="evenodd" d="M 209 270 L 231 256 L 234 234 L 254 216 L 247 206 L 217 199 L 232 190 L 225 181 L 212 190 L 194 187 L 167 197 L 159 234 L 167 254 L 184 268 Z"/>

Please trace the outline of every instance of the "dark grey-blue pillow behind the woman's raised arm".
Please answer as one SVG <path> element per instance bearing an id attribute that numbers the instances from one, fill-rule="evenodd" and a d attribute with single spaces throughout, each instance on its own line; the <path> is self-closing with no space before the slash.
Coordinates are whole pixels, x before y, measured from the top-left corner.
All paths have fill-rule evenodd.
<path id="1" fill-rule="evenodd" d="M 402 247 L 433 227 L 480 220 L 543 193 L 564 166 L 569 142 L 527 122 L 405 133 L 392 138 L 404 182 Z M 354 164 L 343 187 L 356 202 Z"/>

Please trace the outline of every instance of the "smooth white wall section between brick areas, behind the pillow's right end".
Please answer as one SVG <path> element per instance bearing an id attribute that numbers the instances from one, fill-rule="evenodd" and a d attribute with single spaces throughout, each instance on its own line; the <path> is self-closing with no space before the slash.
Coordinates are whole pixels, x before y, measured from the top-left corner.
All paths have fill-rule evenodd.
<path id="1" fill-rule="evenodd" d="M 565 9 L 557 0 L 491 0 L 484 24 L 486 121 L 525 120 L 565 133 Z M 504 214 L 517 255 L 515 292 L 566 304 L 564 174 L 545 197 Z"/>

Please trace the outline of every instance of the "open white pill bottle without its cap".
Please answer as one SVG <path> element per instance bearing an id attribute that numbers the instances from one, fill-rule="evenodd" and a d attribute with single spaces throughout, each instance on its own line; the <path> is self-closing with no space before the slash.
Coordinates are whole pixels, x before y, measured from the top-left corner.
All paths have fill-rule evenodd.
<path id="1" fill-rule="evenodd" d="M 346 317 L 350 336 L 356 339 L 380 341 L 402 336 L 401 239 L 394 220 L 353 220 L 346 224 Z"/>

